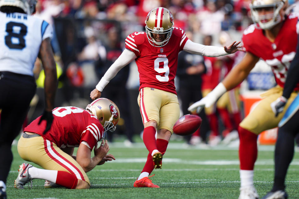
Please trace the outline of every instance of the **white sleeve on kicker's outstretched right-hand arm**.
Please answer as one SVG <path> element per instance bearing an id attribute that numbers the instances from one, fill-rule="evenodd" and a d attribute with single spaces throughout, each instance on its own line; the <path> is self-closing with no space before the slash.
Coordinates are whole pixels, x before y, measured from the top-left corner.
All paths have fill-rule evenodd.
<path id="1" fill-rule="evenodd" d="M 188 53 L 203 55 L 206 57 L 219 57 L 229 54 L 225 52 L 223 47 L 205 46 L 202 44 L 194 43 L 190 39 L 187 40 L 183 50 Z"/>

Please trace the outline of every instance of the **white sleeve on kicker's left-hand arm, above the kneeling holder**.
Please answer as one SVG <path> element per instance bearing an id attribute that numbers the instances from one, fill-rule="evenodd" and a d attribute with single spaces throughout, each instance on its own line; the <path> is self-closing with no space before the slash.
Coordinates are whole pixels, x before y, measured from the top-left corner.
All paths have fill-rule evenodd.
<path id="1" fill-rule="evenodd" d="M 123 67 L 128 65 L 131 61 L 133 61 L 136 58 L 137 57 L 135 53 L 133 53 L 131 50 L 125 49 L 121 53 L 121 55 L 115 60 L 115 62 L 111 65 L 111 67 L 108 68 L 105 75 L 97 84 L 96 89 L 102 92 L 105 86 L 109 83 L 109 81 L 116 76 L 118 71 L 120 71 Z"/>

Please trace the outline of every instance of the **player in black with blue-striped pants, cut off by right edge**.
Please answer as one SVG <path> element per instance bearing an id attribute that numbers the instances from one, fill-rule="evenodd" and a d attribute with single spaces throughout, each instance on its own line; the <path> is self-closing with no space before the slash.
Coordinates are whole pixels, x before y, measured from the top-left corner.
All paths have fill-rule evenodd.
<path id="1" fill-rule="evenodd" d="M 298 37 L 299 39 L 299 37 Z M 297 52 L 291 63 L 286 83 L 284 85 L 282 96 L 271 103 L 272 110 L 277 116 L 283 111 L 283 108 L 289 99 L 292 91 L 298 84 L 299 76 L 299 45 Z M 278 124 L 278 137 L 275 146 L 275 175 L 274 184 L 270 192 L 263 199 L 287 199 L 284 181 L 287 175 L 287 169 L 294 155 L 294 140 L 299 132 L 299 95 L 293 100 L 287 109 L 282 120 Z"/>

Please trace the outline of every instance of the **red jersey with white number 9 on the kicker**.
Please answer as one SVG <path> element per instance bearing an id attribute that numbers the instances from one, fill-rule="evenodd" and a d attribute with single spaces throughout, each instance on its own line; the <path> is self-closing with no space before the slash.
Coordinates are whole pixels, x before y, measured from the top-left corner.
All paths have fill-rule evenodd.
<path id="1" fill-rule="evenodd" d="M 165 46 L 154 47 L 145 32 L 134 32 L 126 38 L 126 49 L 136 55 L 140 87 L 150 87 L 176 94 L 174 77 L 178 67 L 178 53 L 188 38 L 181 28 L 173 28 Z"/>

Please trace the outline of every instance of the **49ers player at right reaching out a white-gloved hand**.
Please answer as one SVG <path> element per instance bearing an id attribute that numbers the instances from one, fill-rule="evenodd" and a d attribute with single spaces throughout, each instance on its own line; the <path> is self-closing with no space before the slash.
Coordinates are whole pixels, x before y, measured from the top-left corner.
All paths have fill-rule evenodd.
<path id="1" fill-rule="evenodd" d="M 206 97 L 192 104 L 189 110 L 200 111 L 203 106 L 209 107 L 227 90 L 239 85 L 250 70 L 262 58 L 271 67 L 278 86 L 268 90 L 259 104 L 240 123 L 238 132 L 240 138 L 240 196 L 239 199 L 258 198 L 253 185 L 253 169 L 257 159 L 257 136 L 264 130 L 277 127 L 282 115 L 275 117 L 270 104 L 282 95 L 282 89 L 287 77 L 287 71 L 296 53 L 298 16 L 285 15 L 287 0 L 253 0 L 250 5 L 253 20 L 243 34 L 246 54 L 225 79 Z M 299 86 L 296 87 L 298 90 Z M 292 92 L 283 113 L 291 104 L 296 92 Z"/>

